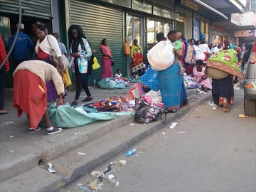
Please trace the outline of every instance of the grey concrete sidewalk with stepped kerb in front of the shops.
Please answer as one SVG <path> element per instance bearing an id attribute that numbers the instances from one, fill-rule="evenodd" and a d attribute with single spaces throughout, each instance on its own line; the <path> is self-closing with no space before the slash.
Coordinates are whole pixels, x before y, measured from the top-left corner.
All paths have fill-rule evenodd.
<path id="1" fill-rule="evenodd" d="M 128 90 L 101 90 L 95 88 L 91 90 L 93 101 L 102 100 L 110 96 L 124 96 Z M 210 92 L 208 95 L 196 95 L 196 90 L 187 90 L 188 100 L 191 107 L 183 108 L 176 114 L 168 115 L 166 123 L 171 122 L 176 117 L 181 117 L 186 112 L 189 112 L 193 107 L 210 100 Z M 75 92 L 68 92 L 68 97 L 65 102 L 73 102 Z M 82 92 L 80 100 L 85 97 L 85 92 Z M 6 110 L 9 110 L 9 114 L 1 115 L 0 122 L 14 121 L 16 124 L 0 126 L 0 185 L 1 190 L 9 191 L 6 187 L 16 184 L 24 184 L 24 188 L 30 191 L 56 191 L 59 186 L 58 183 L 70 183 L 78 179 L 80 174 L 84 174 L 86 171 L 90 171 L 97 164 L 102 163 L 110 159 L 112 156 L 118 154 L 122 150 L 134 144 L 138 139 L 143 139 L 147 135 L 155 132 L 157 129 L 163 127 L 161 121 L 157 121 L 151 124 L 145 124 L 143 129 L 139 130 L 136 127 L 142 127 L 141 124 L 135 124 L 133 129 L 127 127 L 133 122 L 134 116 L 117 117 L 109 122 L 95 122 L 93 124 L 87 124 L 82 127 L 73 129 L 64 129 L 60 134 L 53 136 L 47 136 L 45 130 L 36 132 L 34 134 L 27 134 L 27 122 L 26 115 L 23 115 L 20 119 L 16 116 L 16 110 L 12 107 L 11 92 L 6 94 Z M 121 139 L 119 135 L 119 128 L 127 129 L 128 132 L 124 135 L 124 139 Z M 121 130 L 122 130 L 121 129 Z M 132 132 L 134 131 L 134 132 Z M 110 139 L 118 138 L 115 144 L 109 144 L 107 149 L 99 149 L 98 144 L 107 143 Z M 95 144 L 92 144 L 95 142 Z M 77 151 L 80 147 L 87 148 L 90 146 L 92 154 L 89 159 L 82 161 L 82 159 L 68 159 L 67 156 L 73 157 L 74 151 Z M 95 147 L 93 147 L 95 146 Z M 82 149 L 81 149 L 82 150 Z M 84 149 L 82 151 L 85 151 Z M 55 160 L 54 160 L 55 159 Z M 59 174 L 49 174 L 45 169 L 41 169 L 38 164 L 47 165 L 48 162 L 53 163 L 54 166 L 58 166 L 58 163 L 70 165 L 70 169 L 59 169 Z M 59 164 L 59 166 L 61 166 Z M 39 174 L 39 178 L 36 173 Z M 34 183 L 36 186 L 33 188 L 31 182 L 28 182 L 26 186 L 26 178 L 31 178 L 34 175 L 38 180 L 46 176 L 46 180 L 50 179 L 46 183 Z M 14 176 L 16 179 L 20 177 L 19 182 L 14 182 Z M 16 181 L 16 180 L 15 180 Z M 65 182 L 64 182 L 65 181 Z M 15 184 L 15 185 L 16 185 Z M 25 189 L 24 189 L 25 190 Z M 25 190 L 25 191 L 26 191 Z M 22 191 L 21 188 L 12 188 L 11 191 Z"/>

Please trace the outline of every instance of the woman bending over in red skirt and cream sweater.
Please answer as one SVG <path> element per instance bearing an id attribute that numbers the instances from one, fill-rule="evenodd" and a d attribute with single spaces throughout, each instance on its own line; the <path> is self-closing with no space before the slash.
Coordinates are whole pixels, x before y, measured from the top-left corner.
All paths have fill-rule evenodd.
<path id="1" fill-rule="evenodd" d="M 42 117 L 46 123 L 46 134 L 57 134 L 61 128 L 53 127 L 47 112 L 46 82 L 53 80 L 58 93 L 57 106 L 63 105 L 65 93 L 63 80 L 57 69 L 42 60 L 24 61 L 14 71 L 14 107 L 18 117 L 25 112 L 28 117 L 28 133 L 39 131 Z"/>

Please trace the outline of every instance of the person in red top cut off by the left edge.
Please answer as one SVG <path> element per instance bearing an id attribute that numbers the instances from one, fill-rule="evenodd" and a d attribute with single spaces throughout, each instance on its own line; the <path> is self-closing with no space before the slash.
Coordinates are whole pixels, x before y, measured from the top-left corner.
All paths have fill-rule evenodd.
<path id="1" fill-rule="evenodd" d="M 4 62 L 6 58 L 6 50 L 4 47 L 3 39 L 0 34 L 0 65 Z M 8 111 L 4 110 L 4 95 L 5 95 L 5 74 L 10 70 L 9 60 L 3 64 L 4 67 L 0 70 L 0 114 L 7 114 Z"/>

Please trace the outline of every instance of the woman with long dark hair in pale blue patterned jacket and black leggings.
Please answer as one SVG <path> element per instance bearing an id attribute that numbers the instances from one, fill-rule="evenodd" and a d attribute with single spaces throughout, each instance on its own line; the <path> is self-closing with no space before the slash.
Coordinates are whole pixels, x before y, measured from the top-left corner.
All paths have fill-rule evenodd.
<path id="1" fill-rule="evenodd" d="M 85 90 L 87 97 L 82 102 L 88 102 L 92 100 L 89 87 L 87 85 L 87 70 L 88 60 L 92 56 L 92 50 L 88 41 L 82 31 L 82 28 L 78 25 L 72 25 L 68 29 L 70 56 L 74 58 L 72 70 L 75 73 L 76 78 L 76 93 L 75 100 L 70 106 L 78 105 L 78 100 L 82 92 L 82 88 Z"/>

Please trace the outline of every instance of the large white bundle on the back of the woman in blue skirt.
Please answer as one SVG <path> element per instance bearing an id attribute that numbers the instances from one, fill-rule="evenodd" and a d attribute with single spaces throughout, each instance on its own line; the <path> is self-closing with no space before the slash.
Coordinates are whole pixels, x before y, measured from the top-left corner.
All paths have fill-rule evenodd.
<path id="1" fill-rule="evenodd" d="M 153 70 L 166 70 L 174 63 L 174 45 L 171 41 L 157 43 L 147 54 L 148 61 Z"/>

